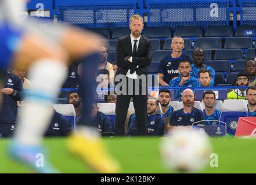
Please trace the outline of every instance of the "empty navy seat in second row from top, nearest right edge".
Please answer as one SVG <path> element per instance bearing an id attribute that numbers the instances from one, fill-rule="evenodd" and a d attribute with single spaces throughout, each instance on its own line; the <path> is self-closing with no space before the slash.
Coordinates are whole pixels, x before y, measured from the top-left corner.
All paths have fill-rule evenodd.
<path id="1" fill-rule="evenodd" d="M 250 37 L 226 38 L 224 48 L 226 49 L 248 49 L 253 47 L 253 40 Z"/>

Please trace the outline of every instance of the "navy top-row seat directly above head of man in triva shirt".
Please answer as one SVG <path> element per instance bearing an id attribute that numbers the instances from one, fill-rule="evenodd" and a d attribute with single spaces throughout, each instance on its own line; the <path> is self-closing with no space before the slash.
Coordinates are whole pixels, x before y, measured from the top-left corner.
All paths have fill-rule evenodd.
<path id="1" fill-rule="evenodd" d="M 174 36 L 177 35 L 195 40 L 203 36 L 203 31 L 201 27 L 177 27 L 174 31 Z"/>

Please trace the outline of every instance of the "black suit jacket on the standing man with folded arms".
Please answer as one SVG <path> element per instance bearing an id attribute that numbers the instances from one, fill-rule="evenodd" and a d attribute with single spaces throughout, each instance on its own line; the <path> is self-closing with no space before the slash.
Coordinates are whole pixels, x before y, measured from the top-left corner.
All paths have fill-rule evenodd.
<path id="1" fill-rule="evenodd" d="M 153 58 L 153 46 L 152 41 L 145 36 L 141 35 L 139 40 L 139 46 L 136 53 L 136 57 L 132 57 L 132 63 L 124 60 L 125 57 L 132 56 L 132 43 L 131 35 L 124 36 L 118 39 L 116 61 L 117 61 L 117 74 L 126 75 L 129 69 L 136 71 L 137 75 L 147 75 L 147 66 Z M 136 66 L 139 68 L 136 68 Z"/>

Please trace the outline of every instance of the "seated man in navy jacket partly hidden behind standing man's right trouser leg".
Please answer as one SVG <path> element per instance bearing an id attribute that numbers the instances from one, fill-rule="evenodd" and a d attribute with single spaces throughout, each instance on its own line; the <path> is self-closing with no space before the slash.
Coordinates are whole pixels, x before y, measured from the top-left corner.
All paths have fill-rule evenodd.
<path id="1" fill-rule="evenodd" d="M 164 119 L 161 114 L 157 114 L 158 101 L 156 98 L 147 100 L 147 123 L 146 130 L 149 136 L 161 136 L 164 134 Z M 131 124 L 129 125 L 129 135 L 137 135 L 137 123 L 135 114 L 131 116 Z"/>

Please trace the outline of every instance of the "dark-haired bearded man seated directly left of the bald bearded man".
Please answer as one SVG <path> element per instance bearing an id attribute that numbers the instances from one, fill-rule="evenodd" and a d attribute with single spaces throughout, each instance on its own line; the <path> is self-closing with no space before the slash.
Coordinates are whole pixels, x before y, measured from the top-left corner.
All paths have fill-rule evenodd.
<path id="1" fill-rule="evenodd" d="M 169 124 L 171 113 L 175 111 L 175 109 L 171 105 L 169 105 L 171 100 L 171 93 L 167 88 L 163 88 L 159 91 L 158 101 L 160 102 L 164 116 L 165 132 L 167 132 L 167 125 Z"/>

